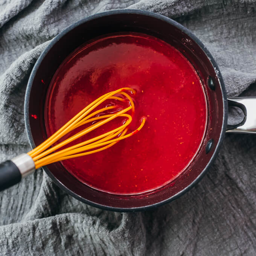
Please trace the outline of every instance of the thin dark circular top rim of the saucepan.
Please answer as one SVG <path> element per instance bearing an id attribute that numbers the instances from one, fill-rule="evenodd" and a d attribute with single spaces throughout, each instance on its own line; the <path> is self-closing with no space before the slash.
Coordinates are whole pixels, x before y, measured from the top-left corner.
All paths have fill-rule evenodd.
<path id="1" fill-rule="evenodd" d="M 209 58 L 209 61 L 211 62 L 212 66 L 215 69 L 215 75 L 219 80 L 219 84 L 220 84 L 220 88 L 221 88 L 222 103 L 223 103 L 223 117 L 222 117 L 221 133 L 220 133 L 218 142 L 216 142 L 216 146 L 215 146 L 214 152 L 212 154 L 212 157 L 210 158 L 209 162 L 207 163 L 207 165 L 203 169 L 203 171 L 201 171 L 201 173 L 197 176 L 197 178 L 195 178 L 195 180 L 193 180 L 183 190 L 181 190 L 180 192 L 178 192 L 177 194 L 171 196 L 170 198 L 168 198 L 166 200 L 163 200 L 163 201 L 160 201 L 160 202 L 157 202 L 157 203 L 154 203 L 154 204 L 149 204 L 147 206 L 130 207 L 130 208 L 119 208 L 119 207 L 113 207 L 113 206 L 102 205 L 102 204 L 99 204 L 99 203 L 94 203 L 90 200 L 87 200 L 87 199 L 77 195 L 75 192 L 73 192 L 72 190 L 70 190 L 69 188 L 64 186 L 64 184 L 62 184 L 59 180 L 57 180 L 55 178 L 55 176 L 49 171 L 47 166 L 43 167 L 44 171 L 47 173 L 47 175 L 49 175 L 49 177 L 55 182 L 55 184 L 58 187 L 60 187 L 62 190 L 64 190 L 68 194 L 72 195 L 72 197 L 75 197 L 76 199 L 82 201 L 83 203 L 86 203 L 86 204 L 89 204 L 91 206 L 98 207 L 98 208 L 101 208 L 101 209 L 112 210 L 112 211 L 116 211 L 116 212 L 134 212 L 134 211 L 142 211 L 142 210 L 152 209 L 154 207 L 158 207 L 158 206 L 166 204 L 170 201 L 173 201 L 173 200 L 177 199 L 178 197 L 180 197 L 181 195 L 183 195 L 184 193 L 186 193 L 192 187 L 194 187 L 195 184 L 197 184 L 203 178 L 203 176 L 206 174 L 207 170 L 209 169 L 209 167 L 212 165 L 213 161 L 215 160 L 216 155 L 219 152 L 221 143 L 222 143 L 222 141 L 224 139 L 224 136 L 225 136 L 226 127 L 227 127 L 227 112 L 228 112 L 227 95 L 226 95 L 226 90 L 225 90 L 225 87 L 224 87 L 224 82 L 222 80 L 221 72 L 220 72 L 215 60 L 213 59 L 211 53 L 207 50 L 206 46 L 204 46 L 204 44 L 189 29 L 182 26 L 180 23 L 177 23 L 176 21 L 174 21 L 174 20 L 172 20 L 172 19 L 170 19 L 166 16 L 156 14 L 156 13 L 153 13 L 153 12 L 149 12 L 149 11 L 140 11 L 140 10 L 134 10 L 134 9 L 122 9 L 122 10 L 101 12 L 99 14 L 95 14 L 95 15 L 92 15 L 90 17 L 79 20 L 79 21 L 73 23 L 72 25 L 70 25 L 69 27 L 67 27 L 66 29 L 64 29 L 55 38 L 53 38 L 53 40 L 49 43 L 49 45 L 46 47 L 46 49 L 44 49 L 44 51 L 41 53 L 40 57 L 38 58 L 37 62 L 35 63 L 35 66 L 34 66 L 32 72 L 30 74 L 30 77 L 29 77 L 29 81 L 28 81 L 27 88 L 26 88 L 26 93 L 25 93 L 25 100 L 24 100 L 25 127 L 26 127 L 27 137 L 29 139 L 29 143 L 30 143 L 30 146 L 32 148 L 35 147 L 35 143 L 34 143 L 34 139 L 32 137 L 32 133 L 31 133 L 31 129 L 30 129 L 30 123 L 29 123 L 29 98 L 30 98 L 30 91 L 31 91 L 31 88 L 32 88 L 32 85 L 33 85 L 33 82 L 34 82 L 35 75 L 36 75 L 38 69 L 40 68 L 40 64 L 43 61 L 44 57 L 49 52 L 49 50 L 55 45 L 55 43 L 60 40 L 60 38 L 62 38 L 64 35 L 66 35 L 71 30 L 75 29 L 77 26 L 79 26 L 83 23 L 86 23 L 90 20 L 94 20 L 94 19 L 101 18 L 101 17 L 104 17 L 104 16 L 115 15 L 115 14 L 138 14 L 138 15 L 145 15 L 145 16 L 152 17 L 152 18 L 157 18 L 157 19 L 160 19 L 162 21 L 165 21 L 166 23 L 169 23 L 169 24 L 177 27 L 184 34 L 187 34 L 190 38 L 192 38 L 195 41 L 195 43 L 197 43 L 198 46 L 200 46 L 200 48 L 203 50 L 203 52 L 206 54 L 206 56 Z"/>

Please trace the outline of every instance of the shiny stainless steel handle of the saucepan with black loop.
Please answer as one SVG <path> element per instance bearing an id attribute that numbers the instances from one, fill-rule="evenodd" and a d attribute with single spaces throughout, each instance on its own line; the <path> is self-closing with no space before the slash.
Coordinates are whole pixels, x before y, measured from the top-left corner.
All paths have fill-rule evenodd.
<path id="1" fill-rule="evenodd" d="M 226 133 L 256 134 L 256 97 L 227 98 L 230 106 L 241 108 L 244 119 L 237 125 L 227 125 Z"/>

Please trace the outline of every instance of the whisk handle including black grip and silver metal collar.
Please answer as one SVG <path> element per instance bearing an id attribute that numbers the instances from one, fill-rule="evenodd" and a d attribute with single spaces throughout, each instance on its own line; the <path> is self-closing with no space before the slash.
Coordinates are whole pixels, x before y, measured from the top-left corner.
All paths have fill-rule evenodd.
<path id="1" fill-rule="evenodd" d="M 28 154 L 21 154 L 0 164 L 0 191 L 21 181 L 35 171 L 35 163 Z"/>

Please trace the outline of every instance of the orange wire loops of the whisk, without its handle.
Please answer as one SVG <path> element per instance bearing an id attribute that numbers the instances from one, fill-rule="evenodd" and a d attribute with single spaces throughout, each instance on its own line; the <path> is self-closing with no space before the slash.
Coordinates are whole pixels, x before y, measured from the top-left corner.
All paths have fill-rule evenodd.
<path id="1" fill-rule="evenodd" d="M 137 133 L 144 126 L 146 119 L 142 118 L 140 126 L 133 132 L 127 133 L 128 126 L 132 121 L 132 115 L 127 114 L 128 111 L 131 110 L 132 114 L 134 113 L 134 102 L 131 96 L 125 91 L 131 91 L 133 94 L 136 93 L 135 90 L 129 87 L 120 88 L 116 91 L 111 91 L 110 93 L 106 93 L 91 102 L 87 107 L 81 110 L 76 116 L 74 116 L 69 122 L 63 125 L 58 131 L 56 131 L 52 136 L 50 136 L 47 140 L 37 146 L 35 149 L 31 150 L 27 154 L 32 157 L 35 163 L 35 169 L 40 168 L 44 165 L 49 165 L 50 163 L 62 161 L 69 158 L 84 156 L 93 154 L 104 149 L 110 148 L 120 140 L 126 139 L 133 134 Z M 121 98 L 117 95 L 123 95 L 126 99 L 128 99 L 130 105 L 122 110 L 118 110 L 112 114 L 104 114 L 101 116 L 97 116 L 99 113 L 104 113 L 105 111 L 116 108 L 116 106 L 108 106 L 105 108 L 101 108 L 92 112 L 96 107 L 98 107 L 102 102 L 108 99 L 115 99 L 117 101 L 125 102 L 125 98 Z M 78 143 L 73 146 L 69 146 L 65 149 L 58 150 L 63 146 L 73 142 L 74 140 L 84 136 L 85 134 L 90 133 L 91 131 L 99 128 L 105 123 L 110 122 L 111 120 L 117 117 L 125 117 L 125 122 L 119 127 L 108 131 L 107 133 L 101 134 L 94 138 L 85 140 L 84 142 Z M 96 122 L 96 123 L 94 123 Z M 61 139 L 66 134 L 75 130 L 79 126 L 85 125 L 87 123 L 93 123 L 82 131 L 79 131 L 75 135 L 65 139 L 64 141 L 58 143 L 55 146 L 52 146 L 55 142 Z M 52 147 L 51 147 L 52 146 Z"/>

